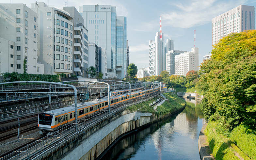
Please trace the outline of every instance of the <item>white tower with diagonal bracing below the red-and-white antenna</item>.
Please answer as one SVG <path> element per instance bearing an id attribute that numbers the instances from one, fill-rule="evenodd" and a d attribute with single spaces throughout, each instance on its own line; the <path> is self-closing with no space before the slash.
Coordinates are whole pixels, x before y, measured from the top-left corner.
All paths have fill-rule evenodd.
<path id="1" fill-rule="evenodd" d="M 155 41 L 149 41 L 149 76 L 160 75 L 165 70 L 164 33 L 156 32 Z"/>

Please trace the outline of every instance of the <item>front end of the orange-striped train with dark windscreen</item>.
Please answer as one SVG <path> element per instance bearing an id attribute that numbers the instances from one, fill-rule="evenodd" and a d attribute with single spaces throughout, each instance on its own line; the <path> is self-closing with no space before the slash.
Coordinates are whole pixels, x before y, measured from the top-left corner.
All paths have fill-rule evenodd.
<path id="1" fill-rule="evenodd" d="M 50 113 L 40 113 L 38 115 L 38 128 L 40 129 L 39 133 L 46 134 L 48 131 L 52 131 L 53 118 L 55 116 Z"/>

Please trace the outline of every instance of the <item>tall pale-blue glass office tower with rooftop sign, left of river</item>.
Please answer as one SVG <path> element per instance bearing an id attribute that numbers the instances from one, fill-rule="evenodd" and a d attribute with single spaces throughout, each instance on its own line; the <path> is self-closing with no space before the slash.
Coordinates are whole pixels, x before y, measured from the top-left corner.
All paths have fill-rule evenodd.
<path id="1" fill-rule="evenodd" d="M 107 73 L 122 79 L 126 72 L 126 17 L 117 16 L 110 5 L 79 7 L 88 29 L 88 40 L 107 50 Z"/>

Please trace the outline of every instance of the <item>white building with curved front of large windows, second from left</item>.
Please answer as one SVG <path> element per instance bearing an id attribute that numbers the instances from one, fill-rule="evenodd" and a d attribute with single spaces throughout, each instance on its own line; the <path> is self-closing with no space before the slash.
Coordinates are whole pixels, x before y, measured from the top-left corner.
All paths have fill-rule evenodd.
<path id="1" fill-rule="evenodd" d="M 31 4 L 38 14 L 39 61 L 45 74 L 73 73 L 73 18 L 60 8 L 44 2 Z M 79 51 L 82 51 L 81 45 Z"/>

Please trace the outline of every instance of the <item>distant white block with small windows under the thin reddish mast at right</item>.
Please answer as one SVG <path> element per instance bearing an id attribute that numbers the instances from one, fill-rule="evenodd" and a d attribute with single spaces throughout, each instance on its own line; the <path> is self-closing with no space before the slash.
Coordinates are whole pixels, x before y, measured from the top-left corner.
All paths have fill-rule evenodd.
<path id="1" fill-rule="evenodd" d="M 175 56 L 175 75 L 186 75 L 189 71 L 198 71 L 198 47 L 193 47 L 191 52 Z"/>

